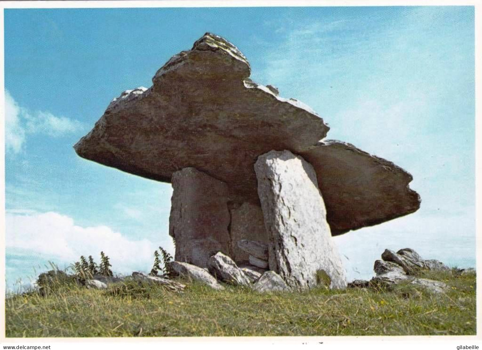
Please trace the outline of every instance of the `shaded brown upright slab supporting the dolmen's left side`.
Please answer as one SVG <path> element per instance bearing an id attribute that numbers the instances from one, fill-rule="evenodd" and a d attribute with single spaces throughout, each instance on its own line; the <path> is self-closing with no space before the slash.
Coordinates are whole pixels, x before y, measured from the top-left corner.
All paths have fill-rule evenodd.
<path id="1" fill-rule="evenodd" d="M 176 261 L 206 267 L 209 258 L 229 254 L 228 186 L 203 172 L 186 168 L 173 174 L 169 234 Z"/>

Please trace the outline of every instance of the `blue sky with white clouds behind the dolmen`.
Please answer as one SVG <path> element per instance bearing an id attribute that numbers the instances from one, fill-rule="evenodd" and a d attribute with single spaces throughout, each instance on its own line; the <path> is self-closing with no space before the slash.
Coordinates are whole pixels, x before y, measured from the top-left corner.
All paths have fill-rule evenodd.
<path id="1" fill-rule="evenodd" d="M 415 214 L 335 238 L 349 279 L 385 248 L 475 266 L 473 7 L 7 9 L 4 22 L 9 285 L 100 250 L 120 273 L 172 252 L 171 185 L 72 146 L 206 31 L 240 48 L 254 81 L 316 110 L 328 139 L 414 176 Z"/>

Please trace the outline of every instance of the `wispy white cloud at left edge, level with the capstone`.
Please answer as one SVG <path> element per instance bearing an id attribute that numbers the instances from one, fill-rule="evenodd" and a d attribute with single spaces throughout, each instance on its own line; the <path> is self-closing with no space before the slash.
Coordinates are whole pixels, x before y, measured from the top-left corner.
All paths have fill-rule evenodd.
<path id="1" fill-rule="evenodd" d="M 12 95 L 5 91 L 5 147 L 7 153 L 22 152 L 29 134 L 60 137 L 80 130 L 78 120 L 56 117 L 52 113 L 30 113 L 19 106 Z"/>

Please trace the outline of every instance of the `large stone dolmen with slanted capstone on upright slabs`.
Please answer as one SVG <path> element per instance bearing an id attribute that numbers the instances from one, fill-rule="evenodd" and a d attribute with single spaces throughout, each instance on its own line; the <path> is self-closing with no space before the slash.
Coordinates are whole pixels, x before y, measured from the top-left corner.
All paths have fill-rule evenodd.
<path id="1" fill-rule="evenodd" d="M 163 65 L 150 88 L 112 100 L 75 151 L 172 184 L 176 261 L 210 268 L 220 252 L 290 288 L 344 288 L 332 236 L 415 212 L 412 176 L 326 140 L 316 112 L 250 74 L 236 46 L 206 33 Z"/>

